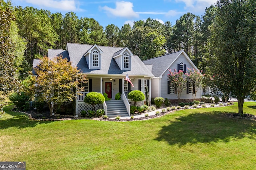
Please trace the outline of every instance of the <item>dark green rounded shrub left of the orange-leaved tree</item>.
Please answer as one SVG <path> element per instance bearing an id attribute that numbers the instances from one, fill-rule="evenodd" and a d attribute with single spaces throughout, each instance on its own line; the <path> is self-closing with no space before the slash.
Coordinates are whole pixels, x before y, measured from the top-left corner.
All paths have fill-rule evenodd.
<path id="1" fill-rule="evenodd" d="M 26 102 L 29 102 L 29 96 L 27 96 L 25 92 L 20 92 L 20 94 L 13 93 L 10 95 L 9 99 L 19 110 L 24 110 Z"/>

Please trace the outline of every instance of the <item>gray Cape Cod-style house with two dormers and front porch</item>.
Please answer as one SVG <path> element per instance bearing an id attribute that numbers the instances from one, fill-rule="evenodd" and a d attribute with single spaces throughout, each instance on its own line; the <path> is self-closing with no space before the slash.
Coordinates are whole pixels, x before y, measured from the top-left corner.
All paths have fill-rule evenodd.
<path id="1" fill-rule="evenodd" d="M 67 43 L 66 50 L 49 49 L 48 58 L 62 55 L 71 61 L 73 66 L 86 74 L 88 81 L 84 86 L 82 96 L 78 95 L 75 101 L 76 115 L 82 110 L 90 110 L 91 105 L 84 103 L 84 96 L 89 92 L 100 92 L 108 94 L 110 101 L 105 101 L 102 106 L 96 109 L 104 109 L 109 117 L 117 115 L 130 115 L 131 101 L 128 101 L 127 94 L 132 90 L 140 90 L 145 93 L 146 86 L 149 89 L 149 98 L 163 97 L 177 99 L 172 93 L 168 82 L 168 69 L 180 69 L 186 71 L 188 68 L 196 68 L 184 51 L 178 51 L 161 57 L 141 61 L 126 47 L 106 47 L 98 45 L 86 45 Z M 35 59 L 33 67 L 39 64 Z M 179 68 L 177 68 L 179 67 Z M 134 85 L 125 80 L 126 75 Z M 188 87 L 190 88 L 190 87 Z M 115 100 L 115 95 L 120 92 L 121 100 Z M 201 98 L 198 93 L 196 98 Z M 189 93 L 182 94 L 182 99 L 192 99 Z M 143 102 L 141 102 L 141 105 Z"/>

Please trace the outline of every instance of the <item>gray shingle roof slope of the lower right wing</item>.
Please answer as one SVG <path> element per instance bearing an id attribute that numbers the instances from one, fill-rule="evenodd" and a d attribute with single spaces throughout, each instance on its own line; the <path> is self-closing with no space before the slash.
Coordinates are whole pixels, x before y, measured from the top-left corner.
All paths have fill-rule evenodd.
<path id="1" fill-rule="evenodd" d="M 143 63 L 146 65 L 152 65 L 152 73 L 154 76 L 159 77 L 180 55 L 181 52 L 182 51 L 176 51 L 160 57 L 154 57 L 152 59 L 144 60 Z"/>

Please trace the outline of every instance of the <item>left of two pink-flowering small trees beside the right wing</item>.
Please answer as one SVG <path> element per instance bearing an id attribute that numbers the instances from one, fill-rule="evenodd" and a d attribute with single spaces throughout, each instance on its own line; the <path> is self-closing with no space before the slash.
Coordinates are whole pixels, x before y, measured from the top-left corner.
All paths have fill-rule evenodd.
<path id="1" fill-rule="evenodd" d="M 174 87 L 176 88 L 176 96 L 178 98 L 178 102 L 180 102 L 180 96 L 183 90 L 186 89 L 186 79 L 184 72 L 182 70 L 179 70 L 179 72 L 176 72 L 176 69 L 174 69 L 174 72 L 172 70 L 169 70 L 170 74 L 167 74 L 168 79 L 171 83 L 174 84 Z"/>

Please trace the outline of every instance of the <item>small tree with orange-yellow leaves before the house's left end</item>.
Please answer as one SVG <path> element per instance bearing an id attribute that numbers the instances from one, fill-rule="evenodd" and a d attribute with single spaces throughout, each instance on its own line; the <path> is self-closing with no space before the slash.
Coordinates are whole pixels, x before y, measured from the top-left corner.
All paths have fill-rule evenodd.
<path id="1" fill-rule="evenodd" d="M 31 88 L 37 102 L 46 102 L 51 115 L 54 115 L 54 105 L 76 99 L 76 92 L 83 88 L 78 87 L 80 82 L 86 82 L 86 75 L 78 74 L 80 70 L 72 66 L 68 59 L 62 56 L 49 60 L 47 57 L 41 59 L 40 64 L 34 68 L 37 76 L 30 81 L 35 82 Z M 78 87 L 78 88 L 77 88 Z M 74 89 L 77 88 L 77 91 Z"/>

